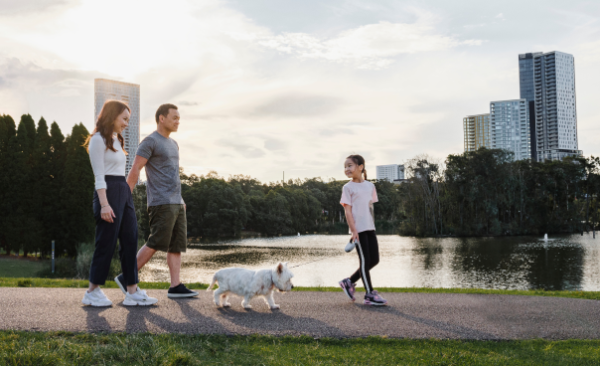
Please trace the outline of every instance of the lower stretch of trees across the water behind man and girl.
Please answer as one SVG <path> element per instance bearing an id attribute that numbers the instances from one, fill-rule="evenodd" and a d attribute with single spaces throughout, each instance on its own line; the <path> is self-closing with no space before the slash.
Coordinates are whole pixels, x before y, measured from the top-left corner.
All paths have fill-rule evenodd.
<path id="1" fill-rule="evenodd" d="M 180 178 L 192 240 L 239 237 L 242 231 L 265 236 L 348 232 L 339 203 L 346 181 L 311 178 L 261 183 L 244 175 L 226 179 L 216 172 L 188 176 L 183 169 Z M 375 185 L 380 202 L 375 210 L 376 225 L 380 230 L 395 232 L 400 203 L 397 186 L 387 181 Z M 142 215 L 140 235 L 147 238 L 145 187 L 138 188 L 134 202 Z"/>

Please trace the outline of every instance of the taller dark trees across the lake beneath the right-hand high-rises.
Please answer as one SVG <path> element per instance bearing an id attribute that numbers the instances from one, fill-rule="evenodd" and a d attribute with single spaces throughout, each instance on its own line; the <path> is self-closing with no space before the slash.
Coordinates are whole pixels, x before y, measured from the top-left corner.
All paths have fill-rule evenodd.
<path id="1" fill-rule="evenodd" d="M 543 235 L 594 231 L 600 222 L 600 159 L 514 161 L 481 148 L 444 162 L 417 156 L 399 187 L 403 235 Z"/>

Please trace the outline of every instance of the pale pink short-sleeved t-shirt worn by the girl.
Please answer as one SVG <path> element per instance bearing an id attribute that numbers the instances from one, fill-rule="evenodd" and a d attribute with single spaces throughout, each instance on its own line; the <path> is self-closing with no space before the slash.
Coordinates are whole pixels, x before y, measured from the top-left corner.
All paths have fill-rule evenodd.
<path id="1" fill-rule="evenodd" d="M 369 181 L 355 183 L 350 181 L 342 188 L 342 206 L 352 206 L 352 217 L 356 231 L 375 230 L 375 219 L 371 208 L 373 203 L 379 201 L 377 199 L 377 190 L 375 185 Z"/>

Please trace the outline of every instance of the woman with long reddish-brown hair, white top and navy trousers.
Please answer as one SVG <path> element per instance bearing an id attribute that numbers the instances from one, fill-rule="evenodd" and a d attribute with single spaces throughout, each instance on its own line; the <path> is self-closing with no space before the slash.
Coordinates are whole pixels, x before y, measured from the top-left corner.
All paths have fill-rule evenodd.
<path id="1" fill-rule="evenodd" d="M 94 132 L 85 142 L 95 176 L 93 209 L 96 220 L 96 248 L 90 268 L 90 285 L 82 300 L 85 305 L 112 305 L 100 286 L 108 277 L 117 239 L 125 282 L 122 285 L 126 287 L 126 290 L 123 289 L 126 292 L 123 305 L 152 305 L 158 301 L 148 297 L 137 286 L 137 218 L 131 190 L 125 180 L 127 152 L 121 134 L 129 125 L 130 116 L 131 109 L 127 104 L 107 101 L 98 115 Z"/>

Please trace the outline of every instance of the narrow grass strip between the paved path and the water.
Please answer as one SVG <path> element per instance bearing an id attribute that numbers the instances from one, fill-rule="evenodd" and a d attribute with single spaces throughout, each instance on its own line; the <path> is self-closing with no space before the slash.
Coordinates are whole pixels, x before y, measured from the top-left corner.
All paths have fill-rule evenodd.
<path id="1" fill-rule="evenodd" d="M 0 287 L 39 287 L 39 288 L 87 288 L 87 280 L 51 278 L 0 277 Z M 187 283 L 194 290 L 205 290 L 204 283 Z M 104 288 L 118 288 L 114 281 L 106 281 Z M 140 282 L 140 287 L 148 290 L 166 290 L 168 282 Z M 359 289 L 360 290 L 360 289 Z M 294 292 L 341 292 L 339 287 L 294 287 Z M 571 299 L 600 300 L 600 291 L 545 291 L 545 290 L 493 290 L 477 288 L 427 288 L 427 287 L 381 287 L 382 293 L 429 293 L 429 294 L 481 294 L 564 297 Z"/>

